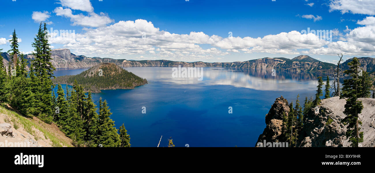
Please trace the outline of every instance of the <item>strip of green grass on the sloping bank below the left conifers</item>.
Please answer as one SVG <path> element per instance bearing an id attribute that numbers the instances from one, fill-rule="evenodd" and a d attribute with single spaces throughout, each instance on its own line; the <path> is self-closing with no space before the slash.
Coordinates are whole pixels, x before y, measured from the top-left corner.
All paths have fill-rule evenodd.
<path id="1" fill-rule="evenodd" d="M 4 113 L 5 115 L 8 115 L 10 118 L 15 119 L 15 122 L 20 122 L 20 124 L 23 126 L 23 128 L 33 136 L 35 136 L 35 131 L 33 128 L 38 129 L 41 131 L 46 139 L 51 140 L 53 147 L 62 147 L 60 143 L 62 143 L 65 146 L 71 146 L 70 144 L 66 143 L 63 140 L 59 140 L 54 134 L 50 133 L 49 131 L 45 130 L 45 128 L 41 127 L 40 125 L 36 124 L 32 120 L 19 115 L 16 112 L 13 112 L 11 110 L 7 110 L 5 107 L 0 107 L 0 113 Z M 13 121 L 12 121 L 13 122 Z M 35 137 L 35 140 L 37 140 L 37 137 Z"/>

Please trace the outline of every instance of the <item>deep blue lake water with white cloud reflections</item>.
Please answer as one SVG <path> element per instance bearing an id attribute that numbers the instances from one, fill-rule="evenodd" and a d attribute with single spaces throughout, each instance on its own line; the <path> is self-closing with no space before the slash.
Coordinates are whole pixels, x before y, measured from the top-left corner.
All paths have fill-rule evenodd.
<path id="1" fill-rule="evenodd" d="M 135 89 L 102 90 L 93 94 L 107 100 L 116 127 L 125 124 L 132 147 L 255 146 L 266 127 L 264 117 L 283 95 L 295 103 L 297 94 L 314 96 L 314 73 L 254 72 L 204 67 L 203 80 L 172 78 L 172 67 L 127 67 L 148 84 Z M 58 69 L 55 76 L 76 75 L 86 69 Z M 326 77 L 323 78 L 326 81 Z M 63 88 L 65 89 L 65 85 Z M 324 87 L 324 86 L 323 86 Z M 324 89 L 324 88 L 323 88 Z M 142 107 L 146 113 L 142 113 Z M 233 113 L 228 113 L 233 107 Z"/>

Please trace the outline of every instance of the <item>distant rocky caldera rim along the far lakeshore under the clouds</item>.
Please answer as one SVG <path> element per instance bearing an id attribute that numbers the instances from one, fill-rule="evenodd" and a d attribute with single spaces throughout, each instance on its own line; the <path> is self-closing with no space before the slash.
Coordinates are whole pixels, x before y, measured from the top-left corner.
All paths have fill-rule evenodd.
<path id="1" fill-rule="evenodd" d="M 249 70 L 282 70 L 282 71 L 293 71 L 293 72 L 318 72 L 318 73 L 334 73 L 336 64 L 325 63 L 316 60 L 308 55 L 300 55 L 293 59 L 288 58 L 260 58 L 256 60 L 249 61 L 236 61 L 232 63 L 204 63 L 202 61 L 198 62 L 180 62 L 180 61 L 169 61 L 169 60 L 125 60 L 125 59 L 112 59 L 112 58 L 100 58 L 100 57 L 86 57 L 84 55 L 75 55 L 70 52 L 69 49 L 53 49 L 52 54 L 52 65 L 59 68 L 90 68 L 100 63 L 114 63 L 120 67 L 231 67 L 239 69 L 249 69 Z M 4 63 L 6 64 L 9 60 L 9 54 L 1 53 L 4 58 Z M 32 54 L 26 55 L 27 60 L 30 61 L 34 59 Z M 359 58 L 361 67 L 369 72 L 375 71 L 375 58 L 362 57 Z M 342 69 L 349 69 L 347 66 L 350 60 L 342 63 Z"/>

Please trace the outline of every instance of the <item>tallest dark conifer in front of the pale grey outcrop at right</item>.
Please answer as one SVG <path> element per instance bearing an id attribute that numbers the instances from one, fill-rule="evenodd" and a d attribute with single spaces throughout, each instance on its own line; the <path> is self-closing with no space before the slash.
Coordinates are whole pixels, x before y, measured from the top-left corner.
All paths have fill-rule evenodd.
<path id="1" fill-rule="evenodd" d="M 359 132 L 359 125 L 362 124 L 359 121 L 358 114 L 362 112 L 363 105 L 362 101 L 358 100 L 359 88 L 362 80 L 360 79 L 359 66 L 360 63 L 357 57 L 348 63 L 350 66 L 349 70 L 345 70 L 344 73 L 350 75 L 351 79 L 345 79 L 342 87 L 342 94 L 340 98 L 346 98 L 347 103 L 345 104 L 344 114 L 347 115 L 342 122 L 348 124 L 347 132 L 345 135 L 349 137 L 349 141 L 353 147 L 358 147 L 359 143 L 363 142 L 363 132 Z"/>

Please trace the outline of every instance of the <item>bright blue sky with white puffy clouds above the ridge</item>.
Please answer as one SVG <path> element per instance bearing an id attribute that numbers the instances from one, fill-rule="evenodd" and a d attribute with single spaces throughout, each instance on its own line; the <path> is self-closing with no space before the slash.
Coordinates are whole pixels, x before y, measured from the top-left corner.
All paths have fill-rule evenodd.
<path id="1" fill-rule="evenodd" d="M 1 0 L 1 6 L 6 51 L 14 28 L 20 50 L 33 51 L 43 21 L 58 31 L 53 48 L 88 57 L 233 62 L 303 54 L 336 63 L 338 53 L 375 54 L 374 0 Z M 302 32 L 308 28 L 332 30 L 332 41 Z"/>

